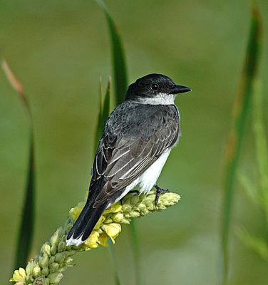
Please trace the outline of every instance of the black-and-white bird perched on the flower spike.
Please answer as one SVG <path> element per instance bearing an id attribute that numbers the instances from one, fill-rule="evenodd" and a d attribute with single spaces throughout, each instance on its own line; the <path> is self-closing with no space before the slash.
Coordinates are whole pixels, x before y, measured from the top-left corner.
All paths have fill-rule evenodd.
<path id="1" fill-rule="evenodd" d="M 177 94 L 191 89 L 152 73 L 128 86 L 125 100 L 110 113 L 91 169 L 86 205 L 68 232 L 66 244 L 88 239 L 101 215 L 130 191 L 148 194 L 155 187 L 155 205 L 168 192 L 156 185 L 170 151 L 180 138 Z"/>

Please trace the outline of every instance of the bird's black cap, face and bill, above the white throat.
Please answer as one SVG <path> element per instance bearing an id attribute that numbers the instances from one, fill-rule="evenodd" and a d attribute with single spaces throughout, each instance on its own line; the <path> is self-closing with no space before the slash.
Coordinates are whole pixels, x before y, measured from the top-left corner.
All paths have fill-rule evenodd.
<path id="1" fill-rule="evenodd" d="M 188 92 L 191 89 L 175 84 L 168 76 L 152 73 L 137 79 L 128 87 L 125 99 L 156 98 L 165 95 L 176 95 Z"/>

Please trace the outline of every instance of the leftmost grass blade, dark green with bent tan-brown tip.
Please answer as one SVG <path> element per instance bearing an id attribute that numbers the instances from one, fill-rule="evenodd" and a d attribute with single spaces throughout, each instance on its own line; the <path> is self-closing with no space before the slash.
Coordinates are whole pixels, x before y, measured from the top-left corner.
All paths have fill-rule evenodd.
<path id="1" fill-rule="evenodd" d="M 2 62 L 2 69 L 9 80 L 11 86 L 16 90 L 21 98 L 24 106 L 29 113 L 31 119 L 31 110 L 24 88 L 19 80 L 14 76 L 9 65 L 6 61 Z M 16 244 L 16 254 L 14 261 L 14 268 L 25 266 L 31 250 L 31 244 L 33 242 L 33 227 L 34 227 L 34 199 L 35 199 L 35 169 L 34 169 L 34 151 L 33 151 L 33 128 L 32 120 L 30 120 L 30 144 L 29 144 L 29 164 L 26 178 L 26 188 L 24 194 L 24 204 L 22 208 L 21 224 L 19 226 L 19 234 Z"/>

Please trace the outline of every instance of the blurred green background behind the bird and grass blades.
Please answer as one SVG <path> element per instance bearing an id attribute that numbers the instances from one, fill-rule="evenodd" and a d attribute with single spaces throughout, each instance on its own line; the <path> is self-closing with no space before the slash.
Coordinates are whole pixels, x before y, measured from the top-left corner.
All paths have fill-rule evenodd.
<path id="1" fill-rule="evenodd" d="M 260 78 L 268 92 L 268 2 Z M 137 219 L 145 284 L 215 284 L 219 278 L 223 153 L 249 35 L 249 1 L 108 0 L 120 28 L 130 83 L 163 73 L 192 88 L 179 96 L 182 138 L 159 185 L 182 196 L 175 207 Z M 95 1 L 0 0 L 0 56 L 23 84 L 36 142 L 33 254 L 83 200 L 90 182 L 98 118 L 98 80 L 112 73 L 108 28 Z M 267 116 L 267 98 L 264 108 Z M 29 118 L 0 71 L 1 284 L 11 276 L 26 182 Z M 248 125 L 240 167 L 254 172 Z M 254 174 L 254 173 L 253 173 Z M 267 284 L 267 262 L 234 234 L 263 236 L 259 209 L 236 184 L 230 284 Z M 135 284 L 130 230 L 115 244 L 122 284 Z M 113 284 L 107 249 L 84 252 L 63 284 Z M 5 283 L 6 282 L 6 283 Z"/>

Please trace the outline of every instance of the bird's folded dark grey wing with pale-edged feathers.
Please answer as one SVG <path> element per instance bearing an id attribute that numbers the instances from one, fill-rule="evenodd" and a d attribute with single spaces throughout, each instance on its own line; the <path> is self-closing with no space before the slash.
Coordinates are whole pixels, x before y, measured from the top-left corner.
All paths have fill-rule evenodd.
<path id="1" fill-rule="evenodd" d="M 179 135 L 178 120 L 177 108 L 170 106 L 162 112 L 155 108 L 155 112 L 143 121 L 132 120 L 130 126 L 124 126 L 125 131 L 107 130 L 106 124 L 92 169 L 88 198 L 94 198 L 94 208 L 110 197 L 119 197 L 124 187 L 147 170 L 164 150 L 174 145 Z M 95 184 L 102 185 L 101 189 L 94 187 Z"/>

